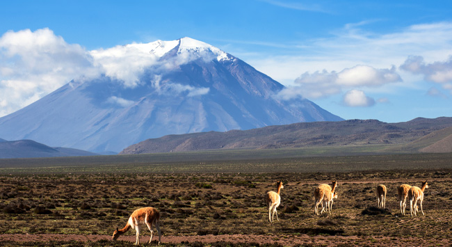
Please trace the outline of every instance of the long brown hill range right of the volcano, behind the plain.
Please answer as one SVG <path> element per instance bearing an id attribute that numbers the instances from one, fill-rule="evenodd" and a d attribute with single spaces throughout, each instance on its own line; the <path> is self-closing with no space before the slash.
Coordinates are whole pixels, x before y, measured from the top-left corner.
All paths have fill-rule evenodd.
<path id="1" fill-rule="evenodd" d="M 441 132 L 441 130 L 450 127 L 452 127 L 452 118 L 444 117 L 416 118 L 398 123 L 386 123 L 378 120 L 300 122 L 244 131 L 168 135 L 131 145 L 122 150 L 120 154 L 376 144 L 388 145 L 388 148 L 396 147 L 405 152 L 419 152 L 422 148 L 434 143 L 439 146 L 446 145 L 444 143 L 452 138 L 449 136 L 452 131 L 449 133 L 446 130 Z M 443 140 L 446 136 L 449 136 L 449 139 Z M 447 151 L 443 148 L 435 148 L 435 150 Z M 424 150 L 423 152 L 429 151 Z"/>

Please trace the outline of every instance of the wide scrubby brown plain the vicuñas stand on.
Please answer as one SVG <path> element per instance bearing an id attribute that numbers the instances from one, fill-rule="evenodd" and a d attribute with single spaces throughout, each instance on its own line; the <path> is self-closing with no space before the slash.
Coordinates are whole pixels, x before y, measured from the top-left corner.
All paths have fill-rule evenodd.
<path id="1" fill-rule="evenodd" d="M 452 244 L 452 154 L 261 154 L 2 159 L 0 245 L 133 246 L 134 230 L 115 242 L 111 234 L 147 206 L 161 212 L 163 246 Z M 314 216 L 314 189 L 332 180 L 332 214 Z M 409 202 L 403 216 L 397 186 L 423 180 L 425 216 L 411 217 Z M 264 195 L 277 181 L 280 220 L 270 224 Z M 378 184 L 385 209 L 376 208 Z M 141 244 L 149 237 L 142 228 Z"/>

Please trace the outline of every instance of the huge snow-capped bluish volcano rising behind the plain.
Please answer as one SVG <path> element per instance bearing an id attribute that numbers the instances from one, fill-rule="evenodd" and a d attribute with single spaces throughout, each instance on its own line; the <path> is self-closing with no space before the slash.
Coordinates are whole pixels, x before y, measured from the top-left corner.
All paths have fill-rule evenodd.
<path id="1" fill-rule="evenodd" d="M 138 74 L 116 69 L 111 56 L 117 53 L 95 51 L 92 56 L 104 65 L 104 74 L 71 81 L 0 118 L 0 136 L 120 152 L 168 134 L 342 120 L 307 99 L 276 97 L 282 84 L 191 38 L 117 49 L 125 55 L 113 61 L 130 61 L 127 66 Z"/>

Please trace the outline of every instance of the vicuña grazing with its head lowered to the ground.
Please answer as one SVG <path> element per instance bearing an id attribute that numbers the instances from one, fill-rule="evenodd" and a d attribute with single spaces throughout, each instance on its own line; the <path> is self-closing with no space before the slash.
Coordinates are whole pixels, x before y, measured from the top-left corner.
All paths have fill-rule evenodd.
<path id="1" fill-rule="evenodd" d="M 130 228 L 134 228 L 136 230 L 136 241 L 135 244 L 140 244 L 140 224 L 147 225 L 147 228 L 151 231 L 151 238 L 149 239 L 149 243 L 152 241 L 152 235 L 154 235 L 154 231 L 152 230 L 152 225 L 155 225 L 157 232 L 159 233 L 159 244 L 160 244 L 160 213 L 154 207 L 142 207 L 140 209 L 136 209 L 131 216 L 129 217 L 129 221 L 124 228 L 118 229 L 116 228 L 115 232 L 113 232 L 113 240 L 118 239 L 120 235 L 127 232 Z"/>

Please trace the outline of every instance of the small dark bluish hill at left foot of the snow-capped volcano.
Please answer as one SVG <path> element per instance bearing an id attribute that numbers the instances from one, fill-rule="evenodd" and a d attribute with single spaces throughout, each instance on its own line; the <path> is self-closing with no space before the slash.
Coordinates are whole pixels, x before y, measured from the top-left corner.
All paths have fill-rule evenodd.
<path id="1" fill-rule="evenodd" d="M 0 159 L 92 155 L 99 154 L 73 148 L 51 148 L 31 140 L 5 141 L 0 139 Z"/>

